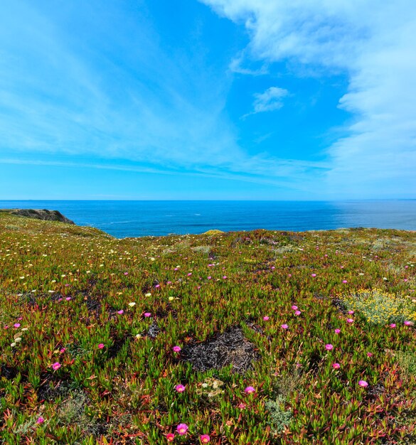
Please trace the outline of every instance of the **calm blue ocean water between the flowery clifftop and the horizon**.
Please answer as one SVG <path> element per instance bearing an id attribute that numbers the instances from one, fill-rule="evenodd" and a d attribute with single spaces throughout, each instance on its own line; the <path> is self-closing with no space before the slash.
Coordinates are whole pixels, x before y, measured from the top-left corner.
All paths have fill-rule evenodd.
<path id="1" fill-rule="evenodd" d="M 0 208 L 59 210 L 78 225 L 114 237 L 232 230 L 416 230 L 416 200 L 362 201 L 75 201 L 0 200 Z"/>

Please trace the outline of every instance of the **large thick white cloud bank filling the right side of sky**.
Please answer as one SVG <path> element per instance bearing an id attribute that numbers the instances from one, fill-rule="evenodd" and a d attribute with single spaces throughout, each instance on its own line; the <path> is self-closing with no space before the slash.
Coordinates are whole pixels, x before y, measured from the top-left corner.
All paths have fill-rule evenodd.
<path id="1" fill-rule="evenodd" d="M 250 44 L 244 54 L 251 60 L 291 60 L 321 73 L 348 74 L 339 106 L 353 122 L 328 149 L 331 168 L 321 192 L 351 198 L 415 194 L 415 1 L 203 3 L 245 24 Z"/>

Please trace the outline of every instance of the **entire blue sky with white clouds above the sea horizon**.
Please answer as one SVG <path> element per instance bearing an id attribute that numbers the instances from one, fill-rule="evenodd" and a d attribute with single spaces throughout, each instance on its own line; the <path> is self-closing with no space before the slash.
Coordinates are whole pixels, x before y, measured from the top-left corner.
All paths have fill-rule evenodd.
<path id="1" fill-rule="evenodd" d="M 414 0 L 6 0 L 0 199 L 416 198 Z"/>

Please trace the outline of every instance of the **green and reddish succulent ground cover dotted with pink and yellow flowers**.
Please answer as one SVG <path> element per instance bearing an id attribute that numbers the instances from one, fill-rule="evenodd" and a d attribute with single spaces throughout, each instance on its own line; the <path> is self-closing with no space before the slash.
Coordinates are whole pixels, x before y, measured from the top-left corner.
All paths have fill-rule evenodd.
<path id="1" fill-rule="evenodd" d="M 415 444 L 415 264 L 415 232 L 0 213 L 0 442 Z"/>

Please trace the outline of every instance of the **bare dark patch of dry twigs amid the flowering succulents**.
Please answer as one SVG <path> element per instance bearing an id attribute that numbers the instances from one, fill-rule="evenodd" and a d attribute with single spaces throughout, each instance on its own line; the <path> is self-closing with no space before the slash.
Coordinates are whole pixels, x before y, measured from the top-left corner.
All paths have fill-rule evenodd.
<path id="1" fill-rule="evenodd" d="M 181 350 L 181 360 L 196 371 L 221 369 L 233 365 L 233 372 L 244 373 L 260 358 L 255 345 L 245 338 L 240 326 L 232 326 L 203 343 L 191 343 Z"/>

